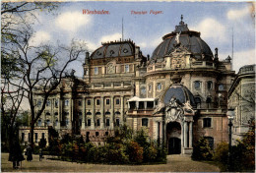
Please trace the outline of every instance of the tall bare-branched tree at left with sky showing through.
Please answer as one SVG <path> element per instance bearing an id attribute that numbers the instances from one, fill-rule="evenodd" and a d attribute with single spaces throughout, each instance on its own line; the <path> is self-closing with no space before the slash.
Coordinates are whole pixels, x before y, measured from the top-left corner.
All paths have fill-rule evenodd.
<path id="1" fill-rule="evenodd" d="M 29 100 L 32 147 L 34 124 L 41 116 L 49 95 L 65 77 L 68 65 L 76 61 L 86 50 L 84 44 L 75 41 L 69 47 L 49 44 L 34 46 L 32 44 L 34 31 L 32 25 L 26 21 L 24 13 L 32 13 L 44 7 L 50 10 L 52 9 L 50 5 L 52 3 L 4 3 L 1 11 L 4 16 L 1 27 L 2 60 L 4 69 L 7 67 L 15 77 L 10 77 L 5 73 L 5 79 L 8 80 L 8 84 L 22 90 L 23 95 Z M 17 71 L 12 71 L 13 68 L 9 67 L 12 62 L 15 62 L 14 67 Z M 36 102 L 33 96 L 37 93 L 38 87 L 43 101 L 38 112 L 35 112 Z"/>

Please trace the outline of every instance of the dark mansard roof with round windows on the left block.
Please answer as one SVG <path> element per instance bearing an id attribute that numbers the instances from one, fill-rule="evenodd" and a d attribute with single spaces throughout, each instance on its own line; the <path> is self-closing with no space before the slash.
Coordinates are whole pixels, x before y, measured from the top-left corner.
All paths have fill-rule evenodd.
<path id="1" fill-rule="evenodd" d="M 91 55 L 91 59 L 134 55 L 135 44 L 130 40 L 102 43 Z"/>

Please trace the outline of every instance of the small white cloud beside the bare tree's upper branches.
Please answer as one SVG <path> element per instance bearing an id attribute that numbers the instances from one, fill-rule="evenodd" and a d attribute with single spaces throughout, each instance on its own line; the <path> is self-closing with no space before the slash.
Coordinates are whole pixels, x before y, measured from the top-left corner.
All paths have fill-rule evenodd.
<path id="1" fill-rule="evenodd" d="M 32 46 L 37 46 L 39 44 L 48 42 L 50 40 L 51 36 L 48 32 L 46 31 L 36 31 L 33 35 L 32 35 L 32 39 L 30 40 L 30 45 Z"/>

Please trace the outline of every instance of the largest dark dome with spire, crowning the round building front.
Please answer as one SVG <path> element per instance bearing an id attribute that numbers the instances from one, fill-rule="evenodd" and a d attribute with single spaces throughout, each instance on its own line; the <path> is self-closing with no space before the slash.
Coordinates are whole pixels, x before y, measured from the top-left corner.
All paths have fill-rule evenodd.
<path id="1" fill-rule="evenodd" d="M 181 22 L 179 23 L 179 26 L 175 27 L 174 31 L 165 34 L 162 37 L 163 41 L 152 54 L 152 61 L 156 61 L 157 59 L 163 58 L 165 55 L 169 55 L 178 45 L 184 46 L 196 59 L 201 59 L 204 54 L 205 60 L 213 60 L 213 52 L 208 44 L 200 37 L 200 32 L 189 30 L 182 19 L 183 18 L 181 17 Z M 178 33 L 180 35 L 177 35 Z M 176 41 L 177 36 L 180 44 Z"/>

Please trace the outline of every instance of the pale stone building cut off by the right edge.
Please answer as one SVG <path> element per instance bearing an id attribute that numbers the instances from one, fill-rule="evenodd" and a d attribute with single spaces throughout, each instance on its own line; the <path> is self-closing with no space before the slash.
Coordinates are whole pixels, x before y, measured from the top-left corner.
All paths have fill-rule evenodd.
<path id="1" fill-rule="evenodd" d="M 228 90 L 228 107 L 234 109 L 235 114 L 233 144 L 248 132 L 251 121 L 255 119 L 255 66 L 241 67 Z"/>

